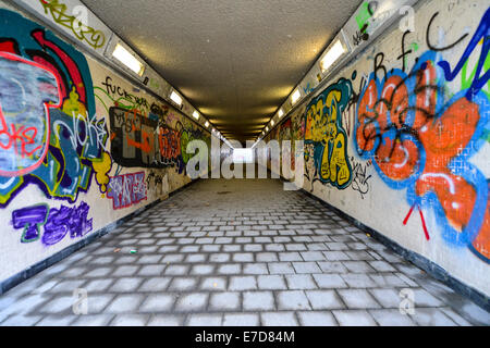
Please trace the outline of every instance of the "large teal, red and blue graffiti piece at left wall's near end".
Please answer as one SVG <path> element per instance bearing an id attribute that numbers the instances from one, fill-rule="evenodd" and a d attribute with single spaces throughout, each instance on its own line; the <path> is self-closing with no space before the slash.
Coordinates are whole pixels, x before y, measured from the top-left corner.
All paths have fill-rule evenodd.
<path id="1" fill-rule="evenodd" d="M 75 202 L 90 186 L 93 163 L 107 158 L 108 134 L 95 115 L 87 61 L 21 15 L 0 10 L 0 16 L 10 23 L 0 30 L 0 159 L 11 172 L 0 173 L 0 204 L 30 184 L 48 198 Z"/>

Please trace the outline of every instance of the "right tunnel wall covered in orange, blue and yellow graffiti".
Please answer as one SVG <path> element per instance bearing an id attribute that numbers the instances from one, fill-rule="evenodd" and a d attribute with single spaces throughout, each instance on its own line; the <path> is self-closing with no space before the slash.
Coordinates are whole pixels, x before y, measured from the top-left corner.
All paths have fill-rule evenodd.
<path id="1" fill-rule="evenodd" d="M 489 296 L 490 9 L 420 1 L 413 20 L 265 140 L 303 139 L 305 190 Z"/>

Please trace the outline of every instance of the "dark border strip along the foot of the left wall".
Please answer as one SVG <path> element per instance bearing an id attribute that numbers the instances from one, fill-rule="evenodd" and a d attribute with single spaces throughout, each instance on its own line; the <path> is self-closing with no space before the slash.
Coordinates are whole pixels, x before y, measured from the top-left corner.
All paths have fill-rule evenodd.
<path id="1" fill-rule="evenodd" d="M 125 222 L 130 221 L 133 217 L 136 217 L 137 215 L 146 212 L 147 210 L 156 207 L 157 204 L 161 203 L 162 201 L 166 201 L 167 199 L 169 199 L 170 197 L 175 196 L 176 194 L 183 191 L 184 189 L 186 189 L 187 187 L 189 187 L 191 185 L 197 183 L 198 181 L 200 181 L 200 178 L 194 179 L 187 184 L 185 184 L 184 186 L 173 190 L 172 192 L 169 192 L 169 197 L 168 198 L 158 198 L 157 200 L 152 201 L 151 203 L 142 207 L 137 210 L 135 210 L 134 212 L 119 219 L 115 220 L 113 222 L 111 222 L 109 225 L 98 229 L 95 233 L 91 233 L 87 238 L 79 240 L 66 248 L 64 248 L 61 251 L 58 251 L 57 253 L 48 257 L 47 259 L 37 262 L 35 264 L 33 264 L 32 266 L 29 266 L 28 269 L 7 278 L 5 281 L 0 283 L 0 295 L 5 294 L 7 291 L 9 291 L 10 289 L 14 288 L 15 286 L 24 283 L 25 281 L 32 278 L 33 276 L 35 276 L 36 274 L 45 271 L 46 269 L 49 269 L 50 266 L 52 266 L 53 264 L 60 262 L 61 260 L 72 256 L 73 253 L 75 253 L 76 251 L 83 249 L 84 247 L 93 244 L 94 241 L 96 241 L 97 239 L 99 239 L 100 237 L 111 233 L 112 231 L 114 231 L 115 228 L 118 228 L 119 226 L 121 226 L 122 224 L 124 224 Z"/>

